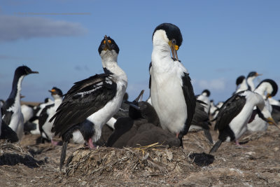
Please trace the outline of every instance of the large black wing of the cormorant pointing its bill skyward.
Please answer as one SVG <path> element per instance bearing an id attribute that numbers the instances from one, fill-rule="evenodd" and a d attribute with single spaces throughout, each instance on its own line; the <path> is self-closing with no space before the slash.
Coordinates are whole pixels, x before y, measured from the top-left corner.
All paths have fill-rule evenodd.
<path id="1" fill-rule="evenodd" d="M 116 95 L 117 85 L 109 74 L 96 74 L 74 83 L 64 95 L 62 104 L 50 119 L 55 119 L 52 132 L 62 136 L 69 128 L 82 123 L 92 113 L 102 109 Z"/>

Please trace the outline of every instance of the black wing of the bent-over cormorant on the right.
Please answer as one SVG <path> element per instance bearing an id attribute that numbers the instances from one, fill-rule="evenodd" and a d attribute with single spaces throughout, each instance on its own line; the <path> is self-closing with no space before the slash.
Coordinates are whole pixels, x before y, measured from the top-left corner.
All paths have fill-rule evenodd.
<path id="1" fill-rule="evenodd" d="M 216 117 L 215 130 L 218 129 L 220 132 L 221 130 L 224 130 L 228 127 L 232 119 L 235 118 L 235 116 L 237 116 L 243 109 L 243 106 L 246 103 L 245 96 L 240 95 L 240 93 L 243 92 L 238 92 L 225 101 Z"/>

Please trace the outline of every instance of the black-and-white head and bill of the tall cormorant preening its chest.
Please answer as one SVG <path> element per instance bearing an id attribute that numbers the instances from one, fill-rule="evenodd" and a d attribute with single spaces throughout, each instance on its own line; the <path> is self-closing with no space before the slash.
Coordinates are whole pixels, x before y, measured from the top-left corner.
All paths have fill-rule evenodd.
<path id="1" fill-rule="evenodd" d="M 179 50 L 179 47 L 183 42 L 183 36 L 179 27 L 172 23 L 162 23 L 158 25 L 158 27 L 155 27 L 153 41 L 155 38 L 168 43 L 172 52 L 172 57 L 179 61 L 177 50 Z"/>

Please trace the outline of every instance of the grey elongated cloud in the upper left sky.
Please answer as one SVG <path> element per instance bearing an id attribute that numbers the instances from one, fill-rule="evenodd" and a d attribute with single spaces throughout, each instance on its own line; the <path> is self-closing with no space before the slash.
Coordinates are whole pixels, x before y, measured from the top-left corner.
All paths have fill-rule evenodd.
<path id="1" fill-rule="evenodd" d="M 79 36 L 87 29 L 76 22 L 40 17 L 0 16 L 0 41 L 15 41 L 34 37 Z"/>

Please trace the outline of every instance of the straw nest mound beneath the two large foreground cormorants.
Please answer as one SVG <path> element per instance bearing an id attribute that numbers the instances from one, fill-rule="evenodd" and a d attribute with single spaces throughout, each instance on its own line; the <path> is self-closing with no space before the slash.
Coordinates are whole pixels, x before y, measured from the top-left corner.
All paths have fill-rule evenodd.
<path id="1" fill-rule="evenodd" d="M 66 174 L 90 174 L 110 176 L 120 175 L 155 176 L 162 174 L 186 174 L 197 168 L 183 148 L 165 146 L 144 146 L 139 148 L 107 148 L 95 150 L 78 149 L 67 160 Z M 212 161 L 213 162 L 213 161 Z"/>

